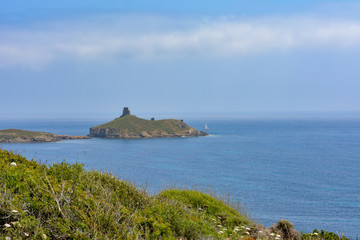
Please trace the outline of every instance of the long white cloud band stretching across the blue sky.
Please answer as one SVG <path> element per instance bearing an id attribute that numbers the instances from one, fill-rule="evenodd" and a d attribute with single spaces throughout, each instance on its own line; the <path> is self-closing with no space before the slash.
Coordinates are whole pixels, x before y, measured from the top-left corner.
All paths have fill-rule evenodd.
<path id="1" fill-rule="evenodd" d="M 360 22 L 314 18 L 180 20 L 136 17 L 0 30 L 0 67 L 39 68 L 97 58 L 227 57 L 303 48 L 360 47 Z M 96 25 L 93 24 L 96 22 Z M 141 26 L 141 27 L 140 27 Z M 154 27 L 156 26 L 156 27 Z M 162 27 L 164 26 L 164 27 Z"/>

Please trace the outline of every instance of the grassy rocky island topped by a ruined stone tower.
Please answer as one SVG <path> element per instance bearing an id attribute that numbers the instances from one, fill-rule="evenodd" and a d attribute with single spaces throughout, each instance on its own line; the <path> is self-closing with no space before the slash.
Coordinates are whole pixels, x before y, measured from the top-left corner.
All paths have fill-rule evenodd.
<path id="1" fill-rule="evenodd" d="M 206 132 L 198 131 L 183 120 L 163 119 L 150 120 L 138 118 L 130 114 L 129 108 L 123 109 L 123 114 L 114 120 L 90 128 L 91 137 L 99 138 L 169 138 L 206 136 Z"/>

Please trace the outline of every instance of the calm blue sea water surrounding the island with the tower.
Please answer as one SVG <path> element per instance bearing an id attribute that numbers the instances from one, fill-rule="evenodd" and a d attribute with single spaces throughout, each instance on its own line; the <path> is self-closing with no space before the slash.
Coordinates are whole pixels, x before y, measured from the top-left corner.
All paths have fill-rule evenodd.
<path id="1" fill-rule="evenodd" d="M 99 120 L 0 120 L 18 128 L 86 135 Z M 203 121 L 186 121 L 201 129 Z M 208 121 L 210 136 L 169 139 L 85 139 L 0 144 L 43 163 L 84 163 L 156 193 L 169 186 L 218 189 L 246 202 L 270 226 L 290 220 L 360 236 L 359 119 Z"/>

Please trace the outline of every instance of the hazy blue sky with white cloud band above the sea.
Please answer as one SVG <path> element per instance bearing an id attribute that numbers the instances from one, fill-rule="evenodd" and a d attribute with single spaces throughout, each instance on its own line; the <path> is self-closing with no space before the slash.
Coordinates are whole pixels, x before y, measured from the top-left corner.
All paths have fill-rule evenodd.
<path id="1" fill-rule="evenodd" d="M 359 1 L 0 6 L 0 119 L 360 112 Z"/>

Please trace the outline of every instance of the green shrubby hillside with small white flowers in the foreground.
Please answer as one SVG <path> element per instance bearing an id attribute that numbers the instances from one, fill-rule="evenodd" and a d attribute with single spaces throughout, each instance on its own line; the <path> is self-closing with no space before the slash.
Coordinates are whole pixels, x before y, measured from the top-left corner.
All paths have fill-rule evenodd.
<path id="1" fill-rule="evenodd" d="M 1 239 L 277 240 L 300 236 L 288 221 L 266 229 L 221 199 L 225 198 L 182 189 L 149 195 L 111 174 L 86 171 L 80 164 L 46 166 L 0 149 Z M 335 239 L 326 236 L 334 237 L 319 233 L 302 238 Z"/>

